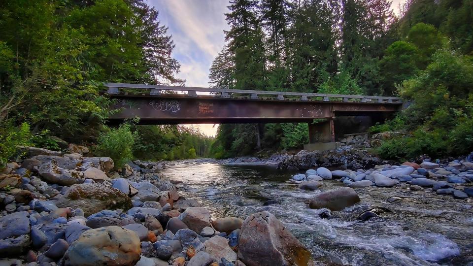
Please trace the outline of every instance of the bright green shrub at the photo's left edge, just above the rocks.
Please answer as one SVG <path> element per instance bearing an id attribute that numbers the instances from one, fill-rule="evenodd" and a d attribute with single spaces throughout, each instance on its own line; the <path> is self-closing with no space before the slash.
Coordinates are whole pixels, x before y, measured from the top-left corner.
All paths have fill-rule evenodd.
<path id="1" fill-rule="evenodd" d="M 32 135 L 30 125 L 23 123 L 19 128 L 8 127 L 0 130 L 0 169 L 3 168 L 9 159 L 18 155 L 18 145 L 30 145 Z"/>

